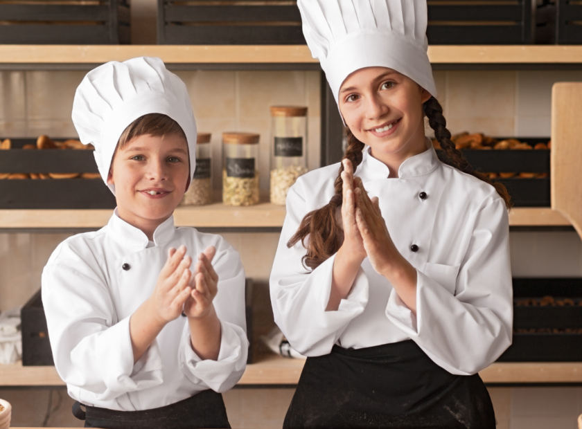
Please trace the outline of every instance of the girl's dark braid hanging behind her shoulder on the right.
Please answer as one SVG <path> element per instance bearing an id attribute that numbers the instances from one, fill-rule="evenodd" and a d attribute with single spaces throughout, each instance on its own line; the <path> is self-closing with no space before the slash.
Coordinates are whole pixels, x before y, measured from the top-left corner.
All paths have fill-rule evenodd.
<path id="1" fill-rule="evenodd" d="M 499 182 L 493 183 L 484 174 L 473 170 L 473 167 L 471 167 L 463 154 L 455 147 L 455 143 L 452 143 L 452 140 L 450 140 L 450 131 L 447 129 L 447 121 L 443 116 L 443 108 L 436 98 L 431 97 L 425 102 L 424 112 L 428 118 L 428 125 L 434 130 L 434 137 L 438 140 L 441 149 L 445 152 L 446 159 L 443 162 L 492 185 L 497 191 L 497 194 L 505 201 L 505 206 L 511 208 L 513 204 L 511 203 L 511 197 L 509 197 L 505 186 Z"/>

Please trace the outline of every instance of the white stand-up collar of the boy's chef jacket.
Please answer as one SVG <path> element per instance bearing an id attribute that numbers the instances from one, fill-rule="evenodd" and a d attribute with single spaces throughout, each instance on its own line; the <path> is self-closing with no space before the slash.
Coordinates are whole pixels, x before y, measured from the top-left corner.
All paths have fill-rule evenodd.
<path id="1" fill-rule="evenodd" d="M 119 217 L 117 209 L 107 223 L 107 232 L 113 239 L 123 246 L 130 246 L 139 250 L 148 246 L 148 236 L 139 228 L 136 228 Z M 174 217 L 170 216 L 154 231 L 155 245 L 166 243 L 174 237 Z"/>

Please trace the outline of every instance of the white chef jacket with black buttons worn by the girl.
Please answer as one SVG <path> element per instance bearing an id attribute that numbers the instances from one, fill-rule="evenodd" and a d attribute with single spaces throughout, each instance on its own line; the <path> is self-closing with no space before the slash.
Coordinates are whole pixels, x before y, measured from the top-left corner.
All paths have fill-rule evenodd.
<path id="1" fill-rule="evenodd" d="M 513 325 L 509 219 L 495 188 L 441 163 L 429 139 L 393 179 L 364 149 L 355 176 L 379 198 L 391 239 L 416 268 L 416 316 L 369 259 L 339 309 L 325 311 L 335 255 L 310 271 L 301 264 L 301 242 L 292 248 L 287 242 L 308 212 L 333 197 L 339 168 L 309 172 L 288 193 L 270 290 L 275 322 L 290 345 L 321 356 L 334 344 L 360 349 L 412 339 L 452 374 L 493 363 L 511 345 Z"/>

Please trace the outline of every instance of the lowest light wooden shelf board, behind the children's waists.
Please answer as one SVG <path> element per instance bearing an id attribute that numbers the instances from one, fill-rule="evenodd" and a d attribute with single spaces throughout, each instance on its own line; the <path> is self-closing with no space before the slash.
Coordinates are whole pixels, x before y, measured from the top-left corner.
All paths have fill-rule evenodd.
<path id="1" fill-rule="evenodd" d="M 305 361 L 265 356 L 259 363 L 247 365 L 238 385 L 295 385 Z M 494 363 L 479 372 L 484 383 L 582 383 L 582 363 Z M 55 367 L 0 365 L 0 387 L 64 385 Z"/>

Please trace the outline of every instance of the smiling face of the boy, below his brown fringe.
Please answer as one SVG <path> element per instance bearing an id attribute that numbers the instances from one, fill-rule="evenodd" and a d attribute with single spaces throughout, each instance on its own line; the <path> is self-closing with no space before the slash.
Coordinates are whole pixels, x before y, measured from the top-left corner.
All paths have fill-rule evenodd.
<path id="1" fill-rule="evenodd" d="M 107 183 L 115 185 L 120 217 L 138 228 L 168 219 L 186 192 L 188 163 L 188 145 L 177 134 L 137 136 L 118 148 Z"/>

